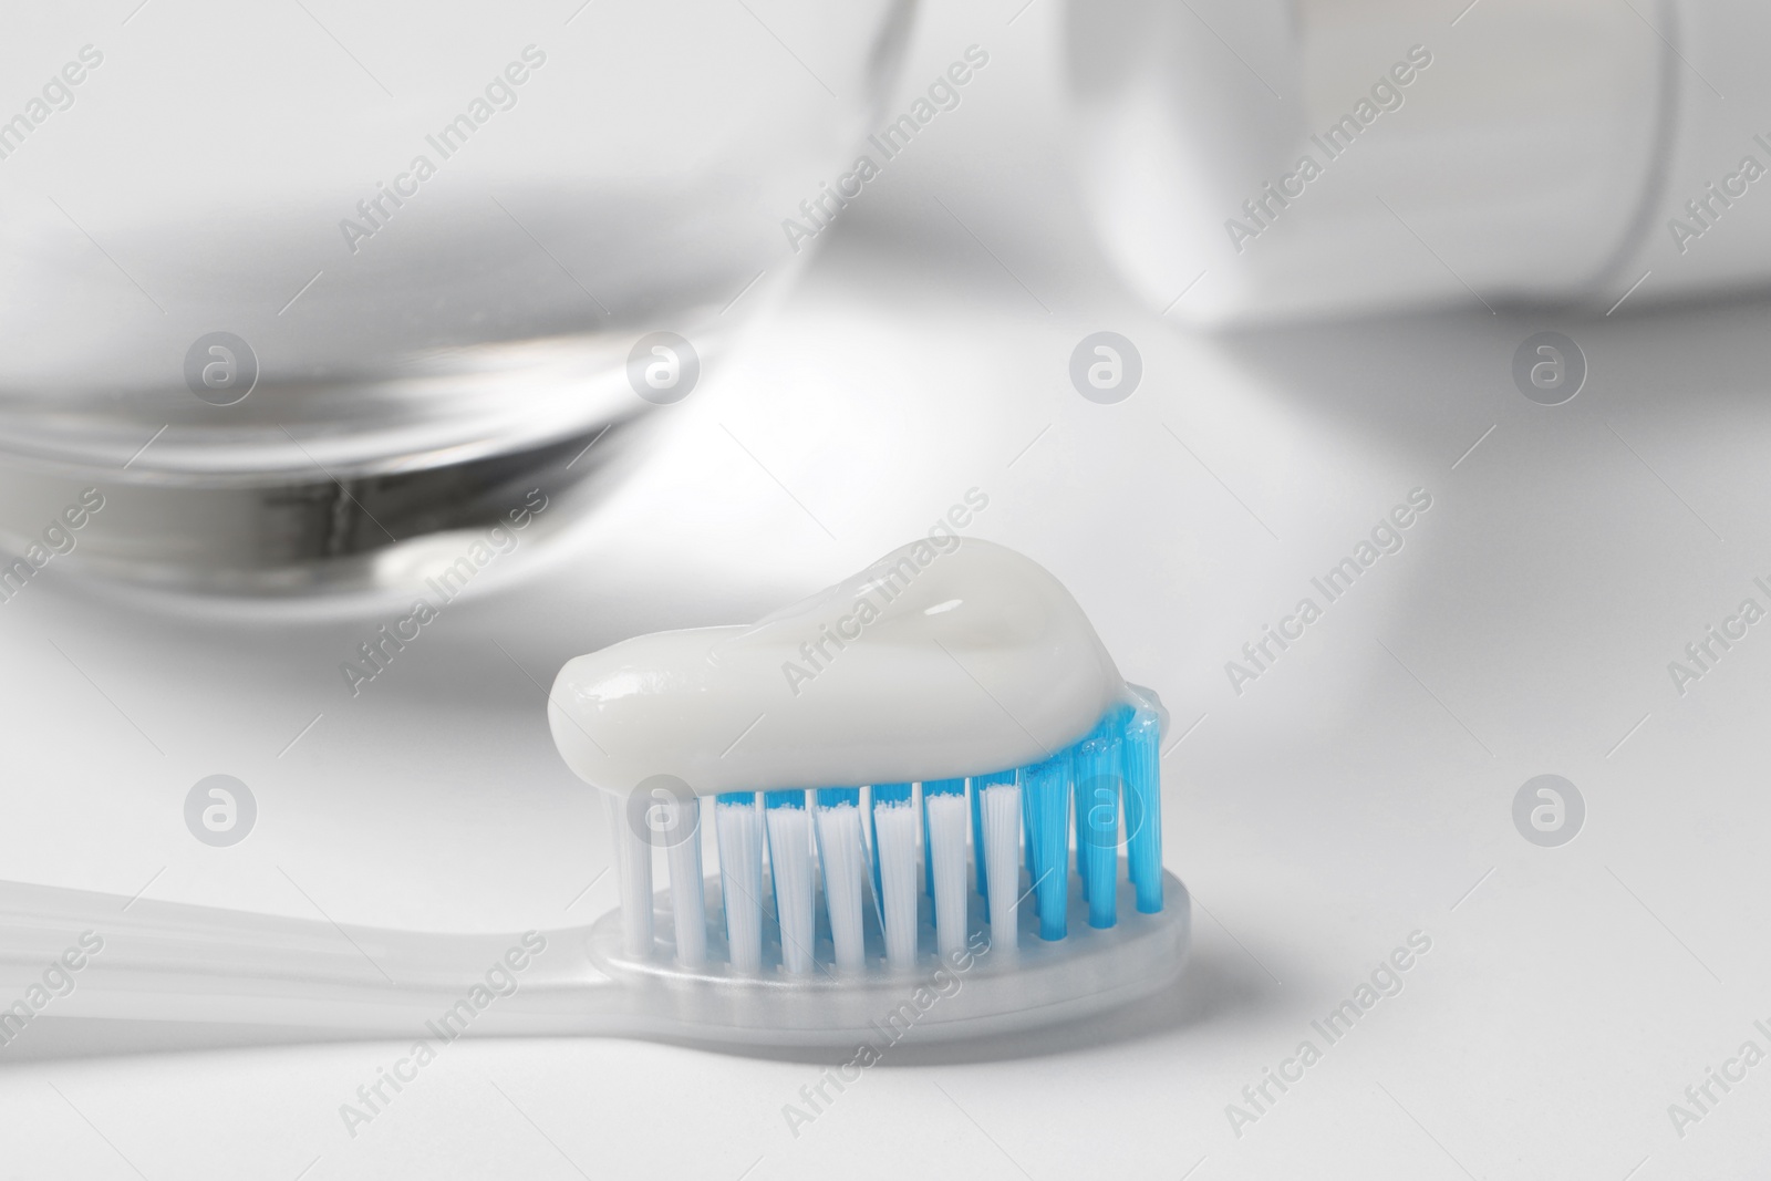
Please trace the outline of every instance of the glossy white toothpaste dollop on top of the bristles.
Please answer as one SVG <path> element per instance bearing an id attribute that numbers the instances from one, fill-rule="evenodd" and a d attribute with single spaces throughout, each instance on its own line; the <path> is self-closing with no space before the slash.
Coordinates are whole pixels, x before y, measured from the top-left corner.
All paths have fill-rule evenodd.
<path id="1" fill-rule="evenodd" d="M 978 538 L 924 538 L 749 627 L 627 639 L 560 669 L 567 765 L 629 793 L 955 779 L 1082 738 L 1128 689 L 1077 600 Z"/>

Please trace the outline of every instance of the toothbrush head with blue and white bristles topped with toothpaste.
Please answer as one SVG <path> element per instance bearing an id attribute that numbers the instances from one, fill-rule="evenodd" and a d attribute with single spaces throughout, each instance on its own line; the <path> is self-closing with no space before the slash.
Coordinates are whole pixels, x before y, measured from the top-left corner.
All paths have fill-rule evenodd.
<path id="1" fill-rule="evenodd" d="M 1167 715 L 1009 549 L 926 538 L 754 627 L 577 657 L 549 722 L 609 806 L 622 905 L 588 953 L 634 1032 L 967 1038 L 1179 976 Z"/>

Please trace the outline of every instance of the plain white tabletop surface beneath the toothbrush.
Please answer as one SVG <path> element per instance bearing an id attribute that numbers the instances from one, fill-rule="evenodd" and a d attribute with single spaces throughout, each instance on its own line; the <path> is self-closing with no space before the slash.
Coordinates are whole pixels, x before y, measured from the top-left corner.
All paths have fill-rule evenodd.
<path id="1" fill-rule="evenodd" d="M 623 634 L 756 618 L 979 485 L 978 535 L 1063 579 L 1187 735 L 1165 760 L 1165 852 L 1201 905 L 1176 993 L 1040 1043 L 893 1050 L 797 1137 L 783 1105 L 822 1068 L 795 1061 L 457 1043 L 352 1139 L 340 1103 L 404 1046 L 30 1061 L 28 1030 L 0 1048 L 7 1172 L 1056 1179 L 1197 1163 L 1195 1181 L 1622 1179 L 1640 1165 L 1635 1179 L 1658 1181 L 1766 1160 L 1771 1066 L 1684 1139 L 1667 1115 L 1744 1039 L 1767 1048 L 1753 1020 L 1771 1023 L 1771 639 L 1752 629 L 1684 696 L 1667 671 L 1744 597 L 1766 602 L 1752 581 L 1771 575 L 1766 308 L 1557 324 L 1477 306 L 1185 336 L 1110 294 L 1068 193 L 986 204 L 1050 184 L 1040 152 L 1057 151 L 1034 133 L 992 140 L 997 156 L 956 147 L 962 117 L 1040 113 L 1008 87 L 1040 9 L 992 19 L 1004 69 L 979 83 L 1004 89 L 969 92 L 953 138 L 924 136 L 926 158 L 882 181 L 898 186 L 877 193 L 891 216 L 870 212 L 873 230 L 921 216 L 933 232 L 889 248 L 832 235 L 744 354 L 668 411 L 668 446 L 581 549 L 446 607 L 361 696 L 336 666 L 404 609 L 181 614 L 53 565 L 0 604 L 0 850 L 21 880 L 340 922 L 588 919 L 615 885 L 584 891 L 607 846 L 547 735 L 553 671 Z M 924 39 L 946 60 L 978 37 Z M 1022 62 L 1043 69 L 1032 48 Z M 935 165 L 951 182 L 912 172 Z M 1098 328 L 1144 356 L 1119 405 L 1068 382 Z M 1509 377 L 1539 328 L 1590 361 L 1562 407 Z M 1236 696 L 1226 660 L 1417 487 L 1433 506 L 1401 552 Z M 182 823 L 213 772 L 259 799 L 234 848 Z M 1541 772 L 1587 800 L 1562 848 L 1512 827 L 1514 791 Z M 1433 947 L 1403 992 L 1318 1041 L 1323 1059 L 1238 1139 L 1226 1105 L 1417 930 Z"/>

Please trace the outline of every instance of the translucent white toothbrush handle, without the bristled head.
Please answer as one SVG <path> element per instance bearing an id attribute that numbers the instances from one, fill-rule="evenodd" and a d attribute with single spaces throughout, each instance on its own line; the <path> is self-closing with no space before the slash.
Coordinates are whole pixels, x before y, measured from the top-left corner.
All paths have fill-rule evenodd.
<path id="1" fill-rule="evenodd" d="M 588 928 L 439 935 L 0 882 L 0 1048 L 39 1015 L 336 1036 L 604 1032 Z"/>

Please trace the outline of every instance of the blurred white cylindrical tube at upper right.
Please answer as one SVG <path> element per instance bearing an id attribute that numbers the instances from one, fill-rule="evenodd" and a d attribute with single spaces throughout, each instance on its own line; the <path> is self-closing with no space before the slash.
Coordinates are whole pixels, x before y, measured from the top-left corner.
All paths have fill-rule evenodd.
<path id="1" fill-rule="evenodd" d="M 1197 324 L 1771 278 L 1753 0 L 1077 0 L 1084 184 Z"/>

